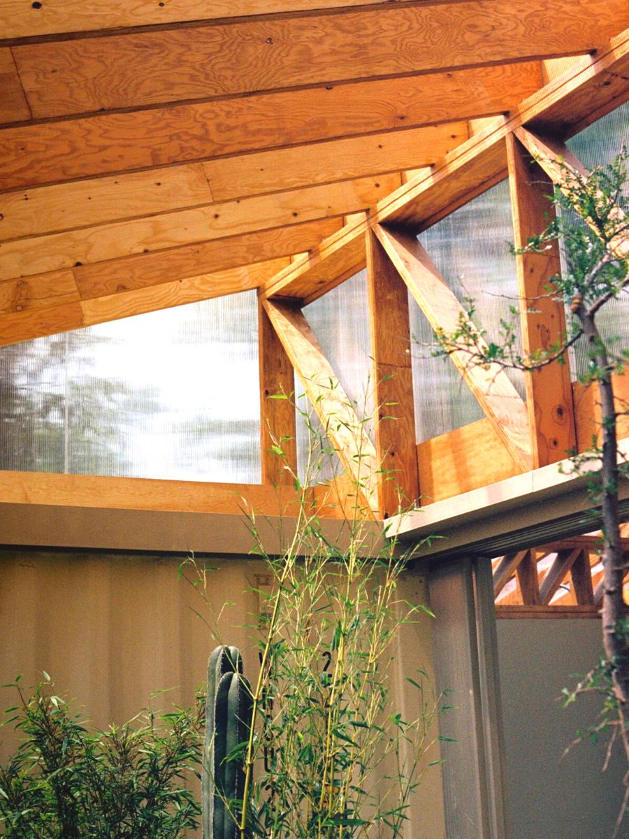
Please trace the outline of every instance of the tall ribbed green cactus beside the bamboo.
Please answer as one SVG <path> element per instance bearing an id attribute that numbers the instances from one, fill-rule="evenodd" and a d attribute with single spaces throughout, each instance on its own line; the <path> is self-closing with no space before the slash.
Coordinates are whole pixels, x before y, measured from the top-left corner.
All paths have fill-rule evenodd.
<path id="1" fill-rule="evenodd" d="M 252 693 L 236 647 L 217 647 L 207 665 L 203 749 L 203 839 L 237 839 L 237 816 L 226 802 L 242 800 L 242 758 L 226 757 L 249 736 Z"/>

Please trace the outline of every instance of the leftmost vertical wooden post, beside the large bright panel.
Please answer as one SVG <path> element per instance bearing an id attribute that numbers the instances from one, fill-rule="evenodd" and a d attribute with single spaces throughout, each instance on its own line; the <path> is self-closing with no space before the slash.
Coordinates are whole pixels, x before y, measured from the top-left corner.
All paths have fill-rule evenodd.
<path id="1" fill-rule="evenodd" d="M 294 486 L 297 477 L 294 369 L 259 299 L 257 315 L 263 483 Z"/>

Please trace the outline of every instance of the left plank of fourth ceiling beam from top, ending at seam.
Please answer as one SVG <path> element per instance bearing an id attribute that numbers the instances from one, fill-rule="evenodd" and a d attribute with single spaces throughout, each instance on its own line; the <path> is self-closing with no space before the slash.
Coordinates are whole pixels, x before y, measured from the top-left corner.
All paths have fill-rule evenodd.
<path id="1" fill-rule="evenodd" d="M 200 164 L 7 192 L 0 195 L 0 240 L 153 216 L 211 201 Z"/>

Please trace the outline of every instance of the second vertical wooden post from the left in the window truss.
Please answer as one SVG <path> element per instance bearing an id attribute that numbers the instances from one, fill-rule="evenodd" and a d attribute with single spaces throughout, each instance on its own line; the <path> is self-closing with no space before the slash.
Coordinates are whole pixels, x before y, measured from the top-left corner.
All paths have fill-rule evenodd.
<path id="1" fill-rule="evenodd" d="M 366 256 L 378 504 L 387 519 L 419 498 L 408 291 L 372 232 Z"/>

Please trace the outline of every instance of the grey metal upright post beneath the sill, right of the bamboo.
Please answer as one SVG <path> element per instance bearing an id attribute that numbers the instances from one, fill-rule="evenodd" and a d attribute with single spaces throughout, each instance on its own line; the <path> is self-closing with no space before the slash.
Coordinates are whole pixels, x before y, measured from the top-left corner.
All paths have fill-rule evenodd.
<path id="1" fill-rule="evenodd" d="M 491 560 L 434 562 L 429 575 L 446 836 L 504 839 L 502 709 Z M 451 741 L 451 742 L 450 742 Z"/>

